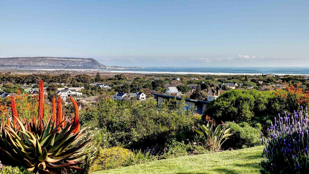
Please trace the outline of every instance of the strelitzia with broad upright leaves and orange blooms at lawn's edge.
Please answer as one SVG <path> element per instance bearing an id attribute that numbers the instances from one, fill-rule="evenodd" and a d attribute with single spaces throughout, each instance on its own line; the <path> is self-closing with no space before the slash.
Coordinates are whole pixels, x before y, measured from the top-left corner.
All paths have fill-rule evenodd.
<path id="1" fill-rule="evenodd" d="M 193 128 L 193 130 L 198 133 L 196 135 L 199 138 L 199 141 L 206 143 L 206 146 L 209 147 L 210 151 L 218 151 L 221 149 L 221 145 L 224 141 L 228 139 L 229 136 L 233 135 L 229 133 L 231 128 L 227 128 L 227 124 L 218 124 L 215 127 L 213 120 L 207 119 L 207 125 L 198 124 L 198 128 Z"/>

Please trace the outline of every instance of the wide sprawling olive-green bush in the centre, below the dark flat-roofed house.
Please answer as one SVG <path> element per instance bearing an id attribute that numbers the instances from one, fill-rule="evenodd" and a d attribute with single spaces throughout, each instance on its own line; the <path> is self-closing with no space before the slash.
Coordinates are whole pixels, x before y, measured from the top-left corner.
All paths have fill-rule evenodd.
<path id="1" fill-rule="evenodd" d="M 80 113 L 83 126 L 103 128 L 110 135 L 112 146 L 146 149 L 156 144 L 163 147 L 167 139 L 185 140 L 191 128 L 201 121 L 196 107 L 184 111 L 184 101 L 164 100 L 158 107 L 155 100 L 101 100 Z M 163 148 L 162 148 L 163 149 Z"/>

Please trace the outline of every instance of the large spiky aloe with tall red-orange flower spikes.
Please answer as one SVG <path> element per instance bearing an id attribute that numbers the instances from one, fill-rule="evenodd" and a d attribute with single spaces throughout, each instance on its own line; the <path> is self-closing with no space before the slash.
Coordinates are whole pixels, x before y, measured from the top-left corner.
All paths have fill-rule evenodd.
<path id="1" fill-rule="evenodd" d="M 44 90 L 43 81 L 39 82 L 39 109 L 37 118 L 24 120 L 18 116 L 14 96 L 11 97 L 12 121 L 7 117 L 2 120 L 0 128 L 0 151 L 2 157 L 26 167 L 34 173 L 61 173 L 61 170 L 77 167 L 82 163 L 83 150 L 91 142 L 84 129 L 79 128 L 78 107 L 74 99 L 71 101 L 75 115 L 65 120 L 62 114 L 61 98 L 52 102 L 52 114 L 44 122 Z M 1 154 L 0 154 L 1 155 Z"/>

